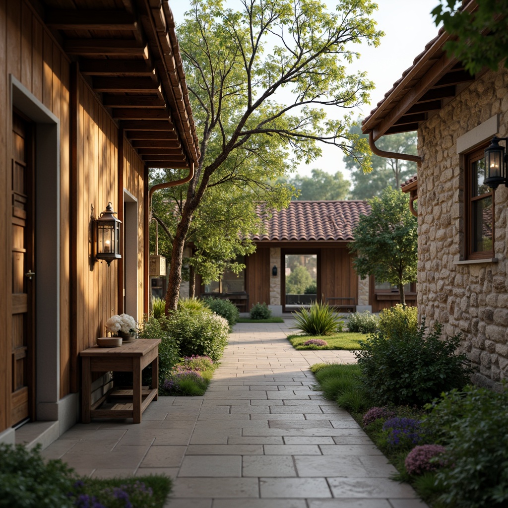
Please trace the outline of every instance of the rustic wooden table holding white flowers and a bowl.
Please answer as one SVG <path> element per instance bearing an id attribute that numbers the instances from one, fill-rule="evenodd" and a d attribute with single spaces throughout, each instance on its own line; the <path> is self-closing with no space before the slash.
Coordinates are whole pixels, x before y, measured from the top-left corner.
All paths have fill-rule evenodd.
<path id="1" fill-rule="evenodd" d="M 132 418 L 133 423 L 141 423 L 141 414 L 152 400 L 158 397 L 158 345 L 161 339 L 137 339 L 119 347 L 93 346 L 82 351 L 83 379 L 83 423 L 90 423 L 91 418 Z M 151 364 L 152 384 L 149 390 L 141 387 L 141 371 Z M 92 372 L 132 372 L 132 390 L 119 390 L 113 387 L 99 400 L 92 404 Z M 115 404 L 109 409 L 100 408 L 108 397 L 130 396 L 132 404 Z"/>

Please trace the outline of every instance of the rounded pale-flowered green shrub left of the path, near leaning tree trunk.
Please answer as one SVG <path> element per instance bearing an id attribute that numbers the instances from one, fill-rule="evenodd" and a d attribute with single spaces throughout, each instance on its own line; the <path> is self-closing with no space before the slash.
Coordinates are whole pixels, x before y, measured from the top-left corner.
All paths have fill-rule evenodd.
<path id="1" fill-rule="evenodd" d="M 179 343 L 180 356 L 209 356 L 215 362 L 228 344 L 228 321 L 205 310 L 175 310 L 168 317 L 168 326 Z"/>

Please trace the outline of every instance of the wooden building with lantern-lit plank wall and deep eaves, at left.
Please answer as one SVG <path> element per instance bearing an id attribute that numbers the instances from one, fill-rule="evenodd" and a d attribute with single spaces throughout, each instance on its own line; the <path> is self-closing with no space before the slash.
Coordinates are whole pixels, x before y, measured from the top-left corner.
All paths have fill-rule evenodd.
<path id="1" fill-rule="evenodd" d="M 54 439 L 78 419 L 79 352 L 147 311 L 148 167 L 193 171 L 198 140 L 166 0 L 3 0 L 0 78 L 0 440 L 27 420 Z"/>

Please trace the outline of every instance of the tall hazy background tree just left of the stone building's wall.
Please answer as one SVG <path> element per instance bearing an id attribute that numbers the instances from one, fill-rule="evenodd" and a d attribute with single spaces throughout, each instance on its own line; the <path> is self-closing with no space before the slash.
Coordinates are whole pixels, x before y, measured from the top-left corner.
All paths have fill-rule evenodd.
<path id="1" fill-rule="evenodd" d="M 351 127 L 351 131 L 360 137 L 368 139 L 366 134 L 362 134 L 360 121 Z M 402 134 L 391 134 L 381 137 L 376 146 L 381 150 L 417 154 L 417 135 L 414 132 Z M 343 161 L 346 168 L 351 171 L 353 189 L 350 196 L 352 199 L 369 199 L 374 196 L 380 196 L 383 189 L 390 185 L 393 188 L 400 188 L 400 184 L 407 178 L 416 174 L 417 166 L 414 162 L 403 161 L 396 158 L 380 157 L 372 155 L 371 170 L 362 171 L 355 159 L 345 156 Z"/>

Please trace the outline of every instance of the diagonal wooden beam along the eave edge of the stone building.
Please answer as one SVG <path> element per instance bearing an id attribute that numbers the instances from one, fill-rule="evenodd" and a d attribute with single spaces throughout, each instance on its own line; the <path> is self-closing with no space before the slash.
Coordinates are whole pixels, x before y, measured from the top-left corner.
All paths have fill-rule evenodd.
<path id="1" fill-rule="evenodd" d="M 434 63 L 434 65 L 420 78 L 418 83 L 394 105 L 393 109 L 385 116 L 385 118 L 383 118 L 383 120 L 381 120 L 372 129 L 374 141 L 384 134 L 388 134 L 387 131 L 392 127 L 392 125 L 394 125 L 395 122 L 404 115 L 411 106 L 420 102 L 420 98 L 424 96 L 429 88 L 432 88 L 437 81 L 447 74 L 455 63 L 455 60 L 450 60 L 446 53 L 444 53 L 441 58 L 439 58 L 439 60 L 437 60 L 437 62 Z"/>

